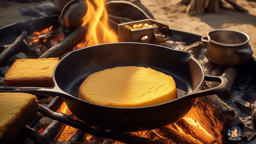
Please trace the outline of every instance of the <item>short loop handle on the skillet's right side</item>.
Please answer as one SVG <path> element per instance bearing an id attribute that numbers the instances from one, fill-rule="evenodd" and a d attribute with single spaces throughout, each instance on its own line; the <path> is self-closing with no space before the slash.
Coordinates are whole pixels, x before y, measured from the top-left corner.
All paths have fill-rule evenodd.
<path id="1" fill-rule="evenodd" d="M 203 97 L 203 96 L 208 96 L 208 95 L 213 95 L 213 94 L 217 94 L 217 93 L 221 93 L 221 92 L 225 92 L 229 82 L 225 77 L 222 76 L 209 76 L 209 75 L 205 75 L 205 80 L 206 81 L 215 81 L 215 82 L 220 82 L 220 85 L 208 90 L 203 90 L 197 93 L 191 93 L 188 94 L 184 97 L 183 100 L 190 100 L 190 99 L 195 99 L 198 97 Z"/>

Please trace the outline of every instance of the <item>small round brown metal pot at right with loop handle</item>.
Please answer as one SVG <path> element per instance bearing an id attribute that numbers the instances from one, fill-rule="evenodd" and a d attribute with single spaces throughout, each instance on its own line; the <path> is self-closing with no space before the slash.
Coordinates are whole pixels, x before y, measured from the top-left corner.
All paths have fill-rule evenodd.
<path id="1" fill-rule="evenodd" d="M 249 45 L 249 36 L 243 32 L 217 29 L 207 33 L 201 41 L 207 42 L 206 57 L 209 61 L 234 66 L 247 62 L 253 51 Z"/>

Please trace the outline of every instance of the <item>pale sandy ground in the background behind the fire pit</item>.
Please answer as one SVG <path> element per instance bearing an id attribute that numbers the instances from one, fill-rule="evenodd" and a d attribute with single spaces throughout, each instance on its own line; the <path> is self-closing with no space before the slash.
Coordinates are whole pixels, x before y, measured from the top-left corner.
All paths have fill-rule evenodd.
<path id="1" fill-rule="evenodd" d="M 214 29 L 232 29 L 242 31 L 249 35 L 253 56 L 256 57 L 256 1 L 234 0 L 237 4 L 249 11 L 249 14 L 240 13 L 225 4 L 219 14 L 205 13 L 203 15 L 185 14 L 186 5 L 181 0 L 141 0 L 141 3 L 153 14 L 157 21 L 168 24 L 170 28 L 206 36 Z M 20 22 L 30 17 L 22 17 L 19 9 L 28 6 L 37 6 L 50 1 L 39 3 L 18 3 L 16 1 L 0 2 L 0 28 L 9 24 Z"/>

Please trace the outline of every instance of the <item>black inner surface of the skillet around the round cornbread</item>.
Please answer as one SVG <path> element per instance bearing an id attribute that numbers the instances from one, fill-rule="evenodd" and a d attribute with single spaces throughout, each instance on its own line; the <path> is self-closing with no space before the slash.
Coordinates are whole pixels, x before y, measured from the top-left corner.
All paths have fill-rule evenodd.
<path id="1" fill-rule="evenodd" d="M 178 97 L 193 92 L 204 80 L 200 64 L 188 52 L 143 43 L 112 43 L 71 52 L 55 68 L 54 79 L 78 98 L 78 89 L 90 74 L 117 66 L 150 67 L 174 78 Z"/>

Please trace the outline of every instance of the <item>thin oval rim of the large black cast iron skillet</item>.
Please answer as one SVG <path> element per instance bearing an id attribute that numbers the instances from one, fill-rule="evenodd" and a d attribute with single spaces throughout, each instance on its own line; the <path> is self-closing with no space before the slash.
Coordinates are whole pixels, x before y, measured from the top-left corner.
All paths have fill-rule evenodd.
<path id="1" fill-rule="evenodd" d="M 179 98 L 176 98 L 176 99 L 173 99 L 171 101 L 168 101 L 168 102 L 164 102 L 164 103 L 160 103 L 160 104 L 156 104 L 156 105 L 151 105 L 151 106 L 143 106 L 143 107 L 111 107 L 111 106 L 104 106 L 104 105 L 99 105 L 99 104 L 95 104 L 95 103 L 91 103 L 91 102 L 88 102 L 88 101 L 84 101 L 84 100 L 81 100 L 79 98 L 76 98 L 74 97 L 73 95 L 63 91 L 57 84 L 56 80 L 55 80 L 55 71 L 56 69 L 58 68 L 58 65 L 60 65 L 60 63 L 63 61 L 63 59 L 67 58 L 70 54 L 72 53 L 77 53 L 83 49 L 86 49 L 86 48 L 92 48 L 92 47 L 95 47 L 95 46 L 103 46 L 103 45 L 113 45 L 113 44 L 143 44 L 143 45 L 152 45 L 152 46 L 157 46 L 157 47 L 162 47 L 162 48 L 166 48 L 166 49 L 169 49 L 171 51 L 180 51 L 180 52 L 183 52 L 183 53 L 187 53 L 190 55 L 189 59 L 192 59 L 193 61 L 195 61 L 199 67 L 200 67 L 200 70 L 202 71 L 202 76 L 203 76 L 203 79 L 201 80 L 200 84 L 195 88 L 194 91 L 192 91 L 191 93 L 189 93 L 188 95 L 184 95 L 182 97 L 179 97 Z M 204 73 L 204 70 L 203 70 L 203 67 L 202 65 L 199 63 L 199 61 L 197 59 L 194 58 L 194 56 L 189 53 L 189 52 L 186 52 L 186 51 L 181 51 L 181 50 L 175 50 L 175 49 L 171 49 L 171 48 L 168 48 L 168 47 L 165 47 L 165 46 L 160 46 L 160 45 L 155 45 L 155 44 L 148 44 L 148 43 L 138 43 L 138 42 L 118 42 L 118 43 L 107 43 L 107 44 L 99 44 L 99 45 L 94 45 L 94 46 L 89 46 L 89 47 L 85 47 L 85 48 L 81 48 L 79 50 L 75 50 L 75 51 L 72 51 L 70 52 L 69 54 L 67 54 L 66 56 L 64 56 L 58 63 L 57 65 L 54 67 L 54 70 L 53 70 L 53 83 L 54 83 L 54 87 L 57 87 L 59 90 L 61 90 L 62 92 L 68 94 L 68 96 L 72 96 L 72 98 L 78 100 L 79 102 L 86 102 L 88 104 L 92 104 L 94 106 L 100 106 L 100 107 L 105 107 L 105 108 L 111 108 L 111 109 L 143 109 L 143 108 L 152 108 L 152 107 L 157 107 L 157 106 L 161 106 L 161 105 L 165 105 L 165 104 L 168 104 L 168 103 L 171 103 L 173 101 L 177 101 L 177 100 L 180 100 L 186 96 L 189 96 L 190 94 L 194 94 L 194 93 L 197 93 L 197 91 L 203 86 L 203 83 L 205 81 L 205 73 Z"/>

